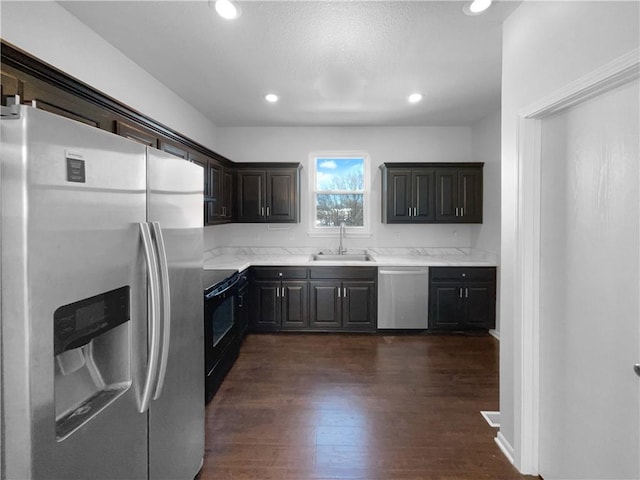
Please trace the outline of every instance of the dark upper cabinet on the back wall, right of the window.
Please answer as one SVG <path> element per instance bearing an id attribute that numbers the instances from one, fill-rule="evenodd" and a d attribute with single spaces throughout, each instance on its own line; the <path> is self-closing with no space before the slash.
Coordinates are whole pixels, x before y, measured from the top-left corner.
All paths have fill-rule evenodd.
<path id="1" fill-rule="evenodd" d="M 482 223 L 482 163 L 384 163 L 383 223 Z"/>

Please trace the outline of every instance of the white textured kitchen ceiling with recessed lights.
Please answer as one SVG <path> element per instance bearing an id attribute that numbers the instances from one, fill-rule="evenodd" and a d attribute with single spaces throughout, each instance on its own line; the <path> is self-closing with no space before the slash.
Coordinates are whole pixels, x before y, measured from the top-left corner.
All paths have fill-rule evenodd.
<path id="1" fill-rule="evenodd" d="M 218 126 L 469 125 L 500 107 L 519 3 L 243 1 L 228 21 L 202 0 L 60 2 Z"/>

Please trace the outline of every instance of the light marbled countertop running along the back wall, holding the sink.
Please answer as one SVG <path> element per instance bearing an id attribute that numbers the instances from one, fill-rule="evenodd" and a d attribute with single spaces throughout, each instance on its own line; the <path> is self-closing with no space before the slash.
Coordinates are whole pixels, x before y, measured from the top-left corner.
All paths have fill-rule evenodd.
<path id="1" fill-rule="evenodd" d="M 372 261 L 313 260 L 318 248 L 223 247 L 204 253 L 205 270 L 242 271 L 251 266 L 371 266 L 371 267 L 494 267 L 494 254 L 471 248 L 367 248 L 348 254 L 367 253 Z M 323 253 L 335 253 L 323 249 Z"/>

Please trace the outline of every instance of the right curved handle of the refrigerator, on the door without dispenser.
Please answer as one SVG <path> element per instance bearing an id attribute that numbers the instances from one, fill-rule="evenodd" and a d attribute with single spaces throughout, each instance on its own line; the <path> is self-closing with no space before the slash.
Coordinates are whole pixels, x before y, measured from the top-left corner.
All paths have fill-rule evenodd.
<path id="1" fill-rule="evenodd" d="M 169 285 L 169 263 L 167 251 L 162 236 L 162 228 L 159 222 L 152 222 L 153 237 L 156 251 L 158 252 L 158 265 L 160 267 L 160 286 L 162 294 L 162 341 L 160 343 L 160 370 L 154 390 L 153 399 L 157 400 L 162 393 L 164 378 L 167 373 L 167 360 L 169 359 L 169 344 L 171 342 L 171 288 Z"/>

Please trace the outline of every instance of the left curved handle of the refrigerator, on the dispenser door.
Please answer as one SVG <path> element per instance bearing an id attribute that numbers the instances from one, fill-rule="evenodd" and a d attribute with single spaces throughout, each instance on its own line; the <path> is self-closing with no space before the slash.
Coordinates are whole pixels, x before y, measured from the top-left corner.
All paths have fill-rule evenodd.
<path id="1" fill-rule="evenodd" d="M 158 261 L 151 240 L 151 231 L 146 222 L 139 223 L 144 247 L 144 257 L 149 275 L 149 353 L 147 357 L 147 374 L 145 375 L 144 388 L 142 390 L 142 400 L 138 411 L 144 413 L 149 409 L 151 401 L 151 390 L 154 380 L 157 378 L 159 348 L 160 348 L 160 278 L 158 275 Z"/>

